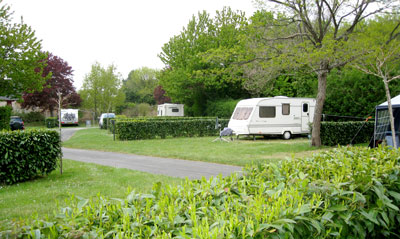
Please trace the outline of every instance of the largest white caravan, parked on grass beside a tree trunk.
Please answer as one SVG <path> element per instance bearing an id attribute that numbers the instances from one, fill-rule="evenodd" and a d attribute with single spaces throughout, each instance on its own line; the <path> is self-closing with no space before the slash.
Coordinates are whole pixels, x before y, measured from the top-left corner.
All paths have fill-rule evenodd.
<path id="1" fill-rule="evenodd" d="M 290 139 L 293 134 L 310 132 L 315 102 L 312 98 L 286 96 L 241 100 L 228 127 L 237 136 L 282 135 L 284 139 Z"/>

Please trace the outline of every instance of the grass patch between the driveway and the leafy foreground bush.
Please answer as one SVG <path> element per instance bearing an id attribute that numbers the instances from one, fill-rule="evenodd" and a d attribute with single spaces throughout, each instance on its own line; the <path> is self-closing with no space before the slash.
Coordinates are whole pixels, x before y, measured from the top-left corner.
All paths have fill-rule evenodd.
<path id="1" fill-rule="evenodd" d="M 129 188 L 149 192 L 155 182 L 177 184 L 182 179 L 142 173 L 129 169 L 99 166 L 63 160 L 59 169 L 48 176 L 11 186 L 0 185 L 0 230 L 5 219 L 27 218 L 35 213 L 39 218 L 52 217 L 57 204 L 64 205 L 71 194 L 84 198 L 98 193 L 108 198 L 124 198 Z M 58 201 L 58 202 L 57 202 Z"/>

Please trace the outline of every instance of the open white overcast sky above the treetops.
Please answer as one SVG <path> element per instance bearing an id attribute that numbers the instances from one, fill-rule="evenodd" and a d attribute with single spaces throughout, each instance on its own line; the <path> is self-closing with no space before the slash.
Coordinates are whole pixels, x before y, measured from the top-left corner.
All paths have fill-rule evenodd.
<path id="1" fill-rule="evenodd" d="M 114 64 L 122 78 L 141 67 L 162 69 L 162 46 L 187 26 L 193 15 L 212 16 L 224 6 L 250 17 L 251 0 L 3 0 L 42 40 L 42 48 L 74 70 L 79 90 L 91 66 Z"/>

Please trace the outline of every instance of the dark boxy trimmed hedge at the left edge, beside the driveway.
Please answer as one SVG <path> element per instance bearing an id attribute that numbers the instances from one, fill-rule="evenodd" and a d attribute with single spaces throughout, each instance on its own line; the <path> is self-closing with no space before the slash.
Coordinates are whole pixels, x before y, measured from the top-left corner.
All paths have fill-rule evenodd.
<path id="1" fill-rule="evenodd" d="M 54 130 L 0 133 L 0 184 L 48 174 L 57 167 L 60 136 Z"/>

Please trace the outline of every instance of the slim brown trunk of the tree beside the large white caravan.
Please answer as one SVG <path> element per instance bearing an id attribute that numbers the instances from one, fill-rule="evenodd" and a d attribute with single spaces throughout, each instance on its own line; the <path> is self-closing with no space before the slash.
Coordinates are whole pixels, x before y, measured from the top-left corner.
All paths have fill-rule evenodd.
<path id="1" fill-rule="evenodd" d="M 321 71 L 318 72 L 318 94 L 311 135 L 311 145 L 316 147 L 321 146 L 321 116 L 326 98 L 326 78 L 329 72 L 328 69 L 324 69 L 327 68 L 324 66 L 327 66 L 327 64 L 321 63 Z"/>

